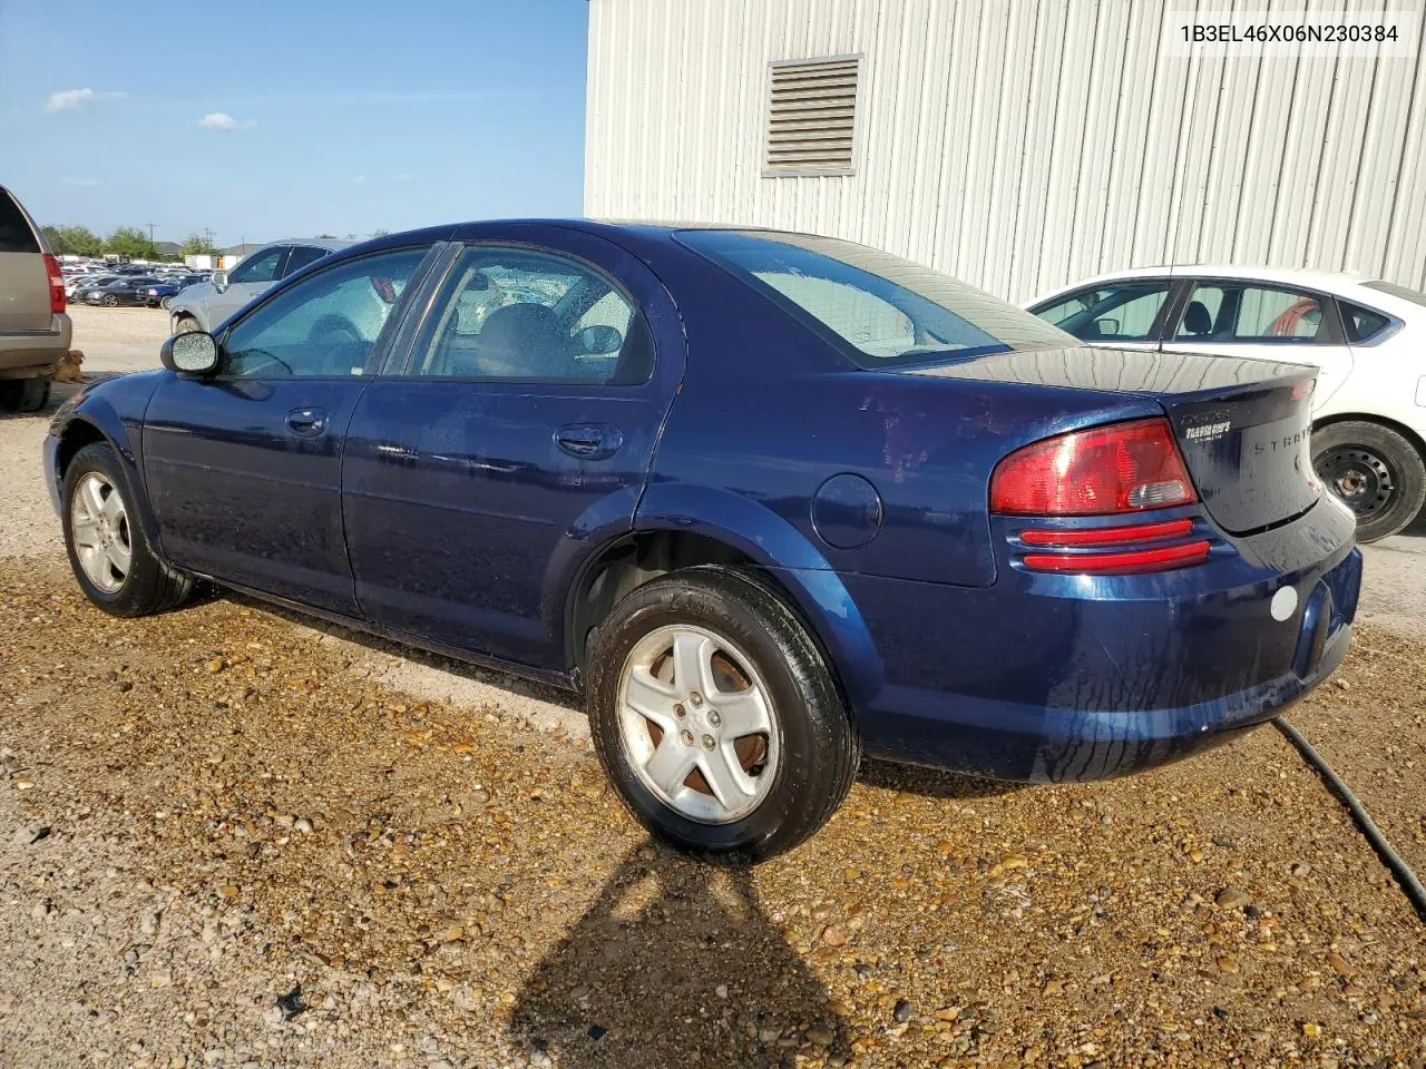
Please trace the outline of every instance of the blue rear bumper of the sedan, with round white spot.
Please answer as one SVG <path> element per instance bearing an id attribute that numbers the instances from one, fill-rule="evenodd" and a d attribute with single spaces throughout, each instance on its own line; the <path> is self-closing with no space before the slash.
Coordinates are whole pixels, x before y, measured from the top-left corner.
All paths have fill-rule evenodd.
<path id="1" fill-rule="evenodd" d="M 1319 506 L 1241 540 L 1239 553 L 1152 576 L 1002 572 L 984 590 L 848 577 L 883 660 L 884 686 L 856 710 L 866 748 L 1000 780 L 1075 781 L 1216 745 L 1346 656 L 1362 554 L 1343 513 Z M 1271 606 L 1283 587 L 1296 607 L 1279 620 Z"/>

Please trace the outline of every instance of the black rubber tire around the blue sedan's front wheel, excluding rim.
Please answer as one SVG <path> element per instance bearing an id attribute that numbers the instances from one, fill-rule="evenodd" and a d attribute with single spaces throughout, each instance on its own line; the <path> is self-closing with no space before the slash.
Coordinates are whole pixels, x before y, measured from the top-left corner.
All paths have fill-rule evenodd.
<path id="1" fill-rule="evenodd" d="M 98 472 L 113 485 L 114 492 L 124 503 L 127 516 L 131 517 L 127 525 L 131 549 L 130 569 L 124 576 L 123 586 L 116 592 L 101 590 L 90 580 L 74 547 L 74 492 L 80 480 L 90 472 Z M 90 601 L 110 616 L 131 617 L 168 611 L 187 600 L 193 592 L 193 579 L 160 559 L 153 546 L 148 544 L 144 525 L 137 519 L 138 512 L 128 489 L 128 479 L 120 468 L 118 458 L 107 443 L 87 445 L 74 455 L 68 468 L 64 469 L 63 500 L 64 547 L 68 552 L 74 577 Z"/>

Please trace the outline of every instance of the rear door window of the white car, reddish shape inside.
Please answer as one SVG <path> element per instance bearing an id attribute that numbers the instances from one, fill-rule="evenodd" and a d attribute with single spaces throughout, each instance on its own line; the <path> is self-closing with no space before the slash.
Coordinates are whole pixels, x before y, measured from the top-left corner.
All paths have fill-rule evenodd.
<path id="1" fill-rule="evenodd" d="M 1201 284 L 1175 338 L 1188 342 L 1312 344 L 1322 334 L 1318 298 L 1276 286 Z"/>

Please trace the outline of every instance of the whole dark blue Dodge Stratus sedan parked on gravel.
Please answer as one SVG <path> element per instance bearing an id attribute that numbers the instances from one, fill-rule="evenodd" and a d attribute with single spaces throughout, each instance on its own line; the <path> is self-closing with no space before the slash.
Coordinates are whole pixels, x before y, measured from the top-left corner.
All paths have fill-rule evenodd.
<path id="1" fill-rule="evenodd" d="M 863 751 L 1148 768 L 1348 649 L 1312 368 L 1088 348 L 848 242 L 388 235 L 163 362 L 46 443 L 96 606 L 205 577 L 580 690 L 629 808 L 696 854 L 796 845 Z"/>

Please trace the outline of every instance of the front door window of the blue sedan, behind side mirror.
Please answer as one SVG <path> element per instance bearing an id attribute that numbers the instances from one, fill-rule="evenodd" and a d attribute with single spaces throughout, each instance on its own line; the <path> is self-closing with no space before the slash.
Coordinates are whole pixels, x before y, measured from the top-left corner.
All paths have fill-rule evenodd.
<path id="1" fill-rule="evenodd" d="M 361 375 L 425 248 L 349 259 L 304 278 L 241 319 L 222 344 L 230 378 Z"/>

